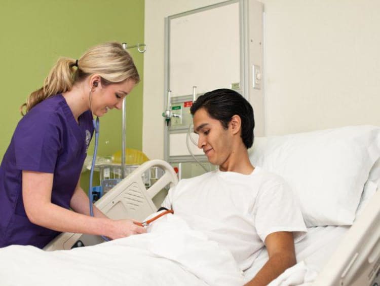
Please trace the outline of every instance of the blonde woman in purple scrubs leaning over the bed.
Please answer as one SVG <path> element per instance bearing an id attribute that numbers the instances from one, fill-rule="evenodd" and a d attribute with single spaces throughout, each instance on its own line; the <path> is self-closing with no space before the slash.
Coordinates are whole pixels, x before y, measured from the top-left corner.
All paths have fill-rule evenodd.
<path id="1" fill-rule="evenodd" d="M 111 239 L 145 232 L 132 220 L 108 219 L 95 206 L 90 217 L 89 198 L 80 187 L 93 115 L 121 109 L 139 81 L 133 59 L 119 43 L 57 61 L 43 87 L 21 106 L 25 115 L 0 166 L 0 247 L 43 248 L 60 232 Z"/>

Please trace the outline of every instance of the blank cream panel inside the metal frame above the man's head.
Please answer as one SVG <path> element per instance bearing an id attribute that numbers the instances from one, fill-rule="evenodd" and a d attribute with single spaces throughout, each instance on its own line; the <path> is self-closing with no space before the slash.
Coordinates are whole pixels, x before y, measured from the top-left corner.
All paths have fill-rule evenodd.
<path id="1" fill-rule="evenodd" d="M 239 2 L 170 18 L 169 89 L 172 96 L 240 83 Z"/>

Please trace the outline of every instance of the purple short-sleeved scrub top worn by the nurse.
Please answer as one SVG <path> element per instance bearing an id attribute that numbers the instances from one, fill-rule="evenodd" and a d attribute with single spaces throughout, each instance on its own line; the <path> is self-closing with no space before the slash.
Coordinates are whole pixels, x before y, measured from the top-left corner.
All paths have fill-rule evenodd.
<path id="1" fill-rule="evenodd" d="M 28 220 L 22 170 L 53 173 L 51 201 L 68 209 L 93 131 L 91 112 L 77 123 L 61 94 L 35 105 L 20 120 L 0 166 L 0 247 L 43 248 L 59 234 Z"/>

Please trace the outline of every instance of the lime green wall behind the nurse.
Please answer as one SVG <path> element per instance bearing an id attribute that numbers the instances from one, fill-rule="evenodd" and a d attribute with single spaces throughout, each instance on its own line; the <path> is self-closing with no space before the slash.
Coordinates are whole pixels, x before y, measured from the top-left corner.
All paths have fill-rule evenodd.
<path id="1" fill-rule="evenodd" d="M 89 47 L 107 41 L 143 43 L 143 0 L 0 0 L 0 159 L 21 119 L 19 106 L 42 86 L 58 57 L 79 58 Z M 143 54 L 136 49 L 129 52 L 142 79 Z M 143 79 L 127 96 L 126 144 L 138 150 L 142 148 L 142 85 Z M 100 119 L 98 155 L 121 150 L 121 119 L 118 110 Z M 82 179 L 87 190 L 88 174 Z"/>

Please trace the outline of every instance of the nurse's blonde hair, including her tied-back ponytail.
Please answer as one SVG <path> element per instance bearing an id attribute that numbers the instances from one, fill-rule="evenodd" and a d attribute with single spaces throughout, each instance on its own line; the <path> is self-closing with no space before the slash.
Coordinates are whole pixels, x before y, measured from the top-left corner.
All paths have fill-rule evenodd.
<path id="1" fill-rule="evenodd" d="M 75 68 L 77 67 L 77 68 Z M 80 59 L 61 57 L 50 70 L 43 87 L 32 92 L 26 103 L 20 106 L 24 115 L 33 106 L 46 98 L 71 90 L 76 82 L 81 82 L 92 74 L 101 77 L 102 85 L 120 83 L 132 79 L 140 81 L 137 68 L 131 55 L 120 43 L 110 42 L 90 48 Z"/>

